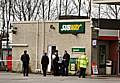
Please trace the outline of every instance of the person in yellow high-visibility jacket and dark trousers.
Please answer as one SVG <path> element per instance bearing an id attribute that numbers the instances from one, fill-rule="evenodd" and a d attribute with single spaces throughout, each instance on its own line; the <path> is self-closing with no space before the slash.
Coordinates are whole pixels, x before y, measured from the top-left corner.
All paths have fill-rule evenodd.
<path id="1" fill-rule="evenodd" d="M 83 55 L 81 55 L 78 58 L 78 62 L 80 64 L 80 72 L 79 72 L 79 78 L 85 78 L 86 76 L 86 68 L 88 66 L 88 57 L 86 55 L 86 53 L 84 53 Z"/>

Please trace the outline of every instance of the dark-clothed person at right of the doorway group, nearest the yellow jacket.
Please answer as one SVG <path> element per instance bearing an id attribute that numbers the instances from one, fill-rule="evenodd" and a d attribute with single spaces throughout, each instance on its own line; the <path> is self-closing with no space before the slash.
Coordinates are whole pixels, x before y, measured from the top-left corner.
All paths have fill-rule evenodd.
<path id="1" fill-rule="evenodd" d="M 68 66 L 70 61 L 70 55 L 65 50 L 63 55 L 63 75 L 68 76 Z"/>

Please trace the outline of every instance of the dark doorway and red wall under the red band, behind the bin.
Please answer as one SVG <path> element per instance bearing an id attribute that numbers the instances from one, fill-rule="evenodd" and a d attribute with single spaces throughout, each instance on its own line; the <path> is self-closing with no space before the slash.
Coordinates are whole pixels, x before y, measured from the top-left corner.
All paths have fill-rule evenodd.
<path id="1" fill-rule="evenodd" d="M 118 69 L 118 41 L 117 40 L 98 40 L 98 68 L 99 74 L 107 74 L 108 67 L 111 67 L 110 73 L 116 75 Z M 107 63 L 111 61 L 110 65 Z"/>

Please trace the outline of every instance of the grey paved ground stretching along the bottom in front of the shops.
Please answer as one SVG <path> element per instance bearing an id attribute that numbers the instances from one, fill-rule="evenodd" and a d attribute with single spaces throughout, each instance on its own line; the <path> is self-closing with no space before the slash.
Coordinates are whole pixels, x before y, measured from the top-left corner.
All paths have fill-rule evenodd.
<path id="1" fill-rule="evenodd" d="M 41 74 L 29 74 L 23 77 L 22 73 L 0 72 L 0 83 L 120 83 L 120 77 L 87 77 L 80 79 L 78 76 L 53 76 L 43 77 Z"/>

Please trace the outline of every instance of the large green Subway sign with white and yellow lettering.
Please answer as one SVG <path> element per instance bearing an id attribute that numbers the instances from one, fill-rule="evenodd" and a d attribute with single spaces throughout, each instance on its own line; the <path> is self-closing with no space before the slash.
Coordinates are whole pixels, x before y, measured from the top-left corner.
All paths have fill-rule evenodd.
<path id="1" fill-rule="evenodd" d="M 60 33 L 85 33 L 85 22 L 59 23 Z"/>

